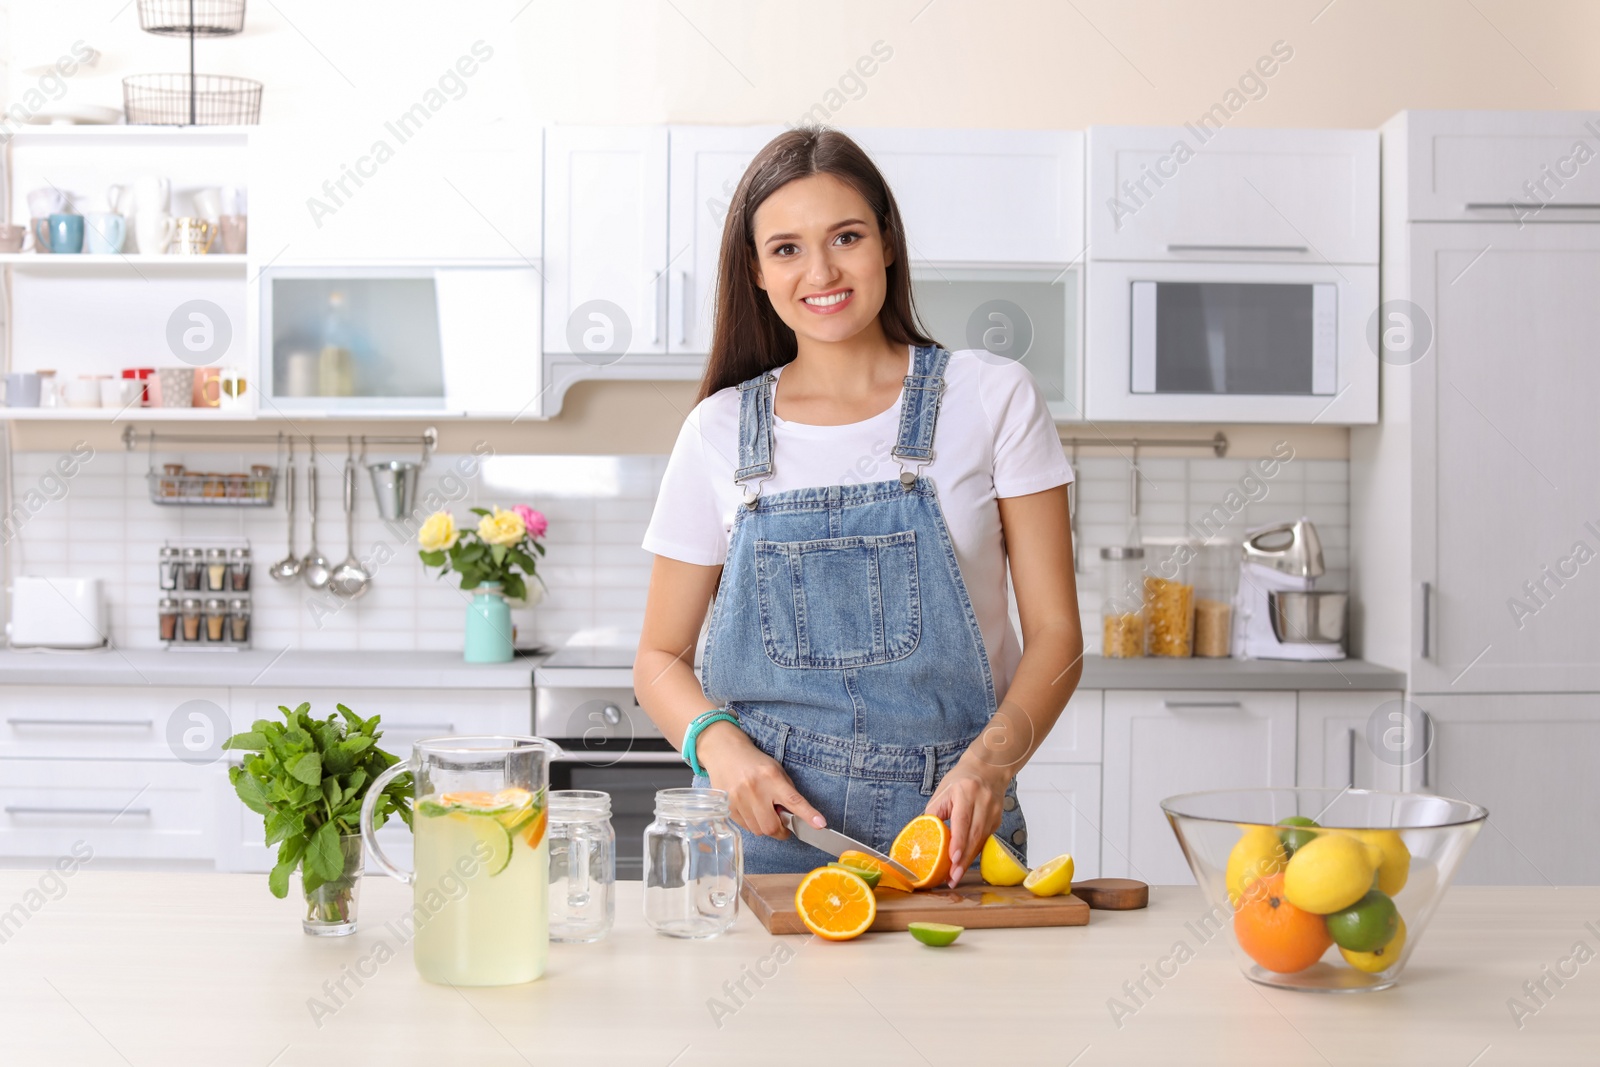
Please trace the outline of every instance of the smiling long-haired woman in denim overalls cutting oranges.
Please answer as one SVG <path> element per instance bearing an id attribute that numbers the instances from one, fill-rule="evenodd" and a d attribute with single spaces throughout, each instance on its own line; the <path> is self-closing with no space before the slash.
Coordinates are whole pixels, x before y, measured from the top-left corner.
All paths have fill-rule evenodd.
<path id="1" fill-rule="evenodd" d="M 728 792 L 752 873 L 829 859 L 781 809 L 880 851 L 947 819 L 950 885 L 990 833 L 1026 857 L 1014 776 L 1080 673 L 1054 424 L 1022 366 L 923 336 L 906 245 L 850 138 L 762 149 L 645 534 L 634 688 L 696 784 Z"/>

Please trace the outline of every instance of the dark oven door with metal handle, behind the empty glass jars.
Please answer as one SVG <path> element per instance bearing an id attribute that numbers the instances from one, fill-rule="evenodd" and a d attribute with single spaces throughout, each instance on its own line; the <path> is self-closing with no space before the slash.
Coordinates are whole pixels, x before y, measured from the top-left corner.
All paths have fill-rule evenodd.
<path id="1" fill-rule="evenodd" d="M 550 763 L 550 789 L 598 789 L 611 793 L 616 832 L 616 877 L 643 878 L 645 827 L 656 817 L 656 790 L 685 789 L 693 773 L 670 744 L 640 737 L 606 749 L 603 742 L 560 742 L 565 755 Z"/>

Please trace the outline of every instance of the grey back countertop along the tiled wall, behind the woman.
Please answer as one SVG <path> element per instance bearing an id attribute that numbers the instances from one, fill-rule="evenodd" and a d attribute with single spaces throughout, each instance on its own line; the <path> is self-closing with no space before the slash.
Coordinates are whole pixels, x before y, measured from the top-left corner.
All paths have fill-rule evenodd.
<path id="1" fill-rule="evenodd" d="M 544 656 L 467 664 L 459 653 L 323 653 L 250 649 L 168 653 L 0 651 L 0 685 L 107 686 L 363 686 L 395 689 L 526 689 Z M 616 672 L 627 685 L 627 670 Z M 1083 657 L 1083 689 L 1403 689 L 1398 670 L 1360 659 L 1301 664 L 1272 659 Z"/>

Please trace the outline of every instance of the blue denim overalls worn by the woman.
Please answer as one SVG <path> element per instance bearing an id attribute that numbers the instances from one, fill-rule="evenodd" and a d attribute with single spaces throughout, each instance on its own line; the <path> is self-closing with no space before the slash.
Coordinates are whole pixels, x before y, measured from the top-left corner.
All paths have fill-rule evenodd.
<path id="1" fill-rule="evenodd" d="M 774 470 L 776 378 L 739 386 L 744 506 L 706 640 L 707 697 L 733 707 L 829 827 L 885 853 L 995 712 L 939 494 L 917 474 L 933 459 L 949 358 L 914 352 L 893 482 L 762 496 Z M 1000 838 L 1026 856 L 1016 782 L 1003 808 Z M 741 833 L 747 873 L 832 859 L 795 838 Z"/>

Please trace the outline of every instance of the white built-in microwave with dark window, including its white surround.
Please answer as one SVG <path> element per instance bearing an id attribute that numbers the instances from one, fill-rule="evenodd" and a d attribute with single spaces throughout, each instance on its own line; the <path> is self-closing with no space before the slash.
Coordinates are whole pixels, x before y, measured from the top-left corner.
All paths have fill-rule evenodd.
<path id="1" fill-rule="evenodd" d="M 1090 418 L 1378 419 L 1376 266 L 1093 262 L 1088 307 Z"/>

